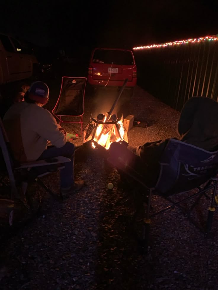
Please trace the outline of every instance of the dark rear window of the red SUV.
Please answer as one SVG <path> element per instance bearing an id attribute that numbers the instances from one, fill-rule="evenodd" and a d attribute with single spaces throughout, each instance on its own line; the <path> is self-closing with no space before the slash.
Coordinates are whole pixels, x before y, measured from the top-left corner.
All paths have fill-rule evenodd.
<path id="1" fill-rule="evenodd" d="M 105 64 L 131 65 L 134 64 L 131 51 L 96 49 L 93 62 Z"/>

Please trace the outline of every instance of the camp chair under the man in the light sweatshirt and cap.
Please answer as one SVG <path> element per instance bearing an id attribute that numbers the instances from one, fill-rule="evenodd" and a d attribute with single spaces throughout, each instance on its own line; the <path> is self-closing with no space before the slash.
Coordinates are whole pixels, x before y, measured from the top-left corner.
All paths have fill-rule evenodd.
<path id="1" fill-rule="evenodd" d="M 28 184 L 31 182 L 38 182 L 47 190 L 47 192 L 56 197 L 56 195 L 54 195 L 54 193 L 44 184 L 40 177 L 47 175 L 52 171 L 64 168 L 62 163 L 69 162 L 70 159 L 59 156 L 47 160 L 18 163 L 14 160 L 13 154 L 11 153 L 10 144 L 1 119 L 0 148 L 0 183 L 4 184 L 5 176 L 9 179 L 9 198 L 0 198 L 0 205 L 1 203 L 7 205 L 6 210 L 9 213 L 9 224 L 12 225 L 14 201 L 20 200 L 23 202 L 23 197 L 25 197 Z M 3 193 L 4 192 L 1 191 L 1 194 Z"/>

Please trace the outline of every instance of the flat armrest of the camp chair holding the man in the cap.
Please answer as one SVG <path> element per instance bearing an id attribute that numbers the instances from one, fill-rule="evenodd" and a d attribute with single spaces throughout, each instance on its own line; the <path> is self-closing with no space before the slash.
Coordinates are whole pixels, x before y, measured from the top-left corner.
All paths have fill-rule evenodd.
<path id="1" fill-rule="evenodd" d="M 36 161 L 21 163 L 20 166 L 16 167 L 15 169 L 38 167 L 38 166 L 48 166 L 48 165 L 52 165 L 52 164 L 65 163 L 65 162 L 70 162 L 70 161 L 71 160 L 67 157 L 58 156 L 55 158 L 48 158 L 48 159 L 43 159 L 43 160 L 36 160 Z"/>

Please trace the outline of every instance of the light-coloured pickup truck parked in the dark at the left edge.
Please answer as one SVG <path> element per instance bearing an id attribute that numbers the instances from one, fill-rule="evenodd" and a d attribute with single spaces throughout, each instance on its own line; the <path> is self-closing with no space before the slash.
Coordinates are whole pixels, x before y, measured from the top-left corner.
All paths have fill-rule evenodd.
<path id="1" fill-rule="evenodd" d="M 0 33 L 0 85 L 31 77 L 38 61 L 15 38 Z"/>

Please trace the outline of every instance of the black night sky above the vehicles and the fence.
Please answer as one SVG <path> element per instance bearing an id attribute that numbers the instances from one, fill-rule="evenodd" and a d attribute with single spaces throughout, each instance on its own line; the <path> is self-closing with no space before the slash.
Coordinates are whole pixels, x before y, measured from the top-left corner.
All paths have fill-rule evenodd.
<path id="1" fill-rule="evenodd" d="M 6 1 L 5 1 L 6 2 Z M 130 47 L 218 33 L 218 1 L 11 1 L 1 30 L 43 46 Z"/>

